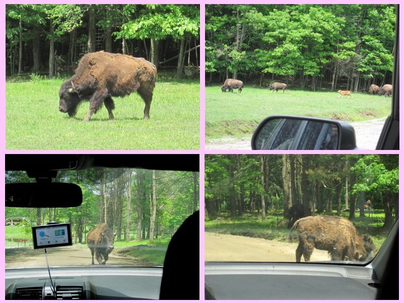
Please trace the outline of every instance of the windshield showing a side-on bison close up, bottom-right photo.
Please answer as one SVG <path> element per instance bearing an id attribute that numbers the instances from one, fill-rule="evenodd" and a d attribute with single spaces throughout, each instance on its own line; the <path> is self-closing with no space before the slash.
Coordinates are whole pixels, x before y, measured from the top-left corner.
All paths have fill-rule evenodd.
<path id="1" fill-rule="evenodd" d="M 205 261 L 366 264 L 398 220 L 398 155 L 207 155 Z"/>

